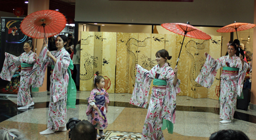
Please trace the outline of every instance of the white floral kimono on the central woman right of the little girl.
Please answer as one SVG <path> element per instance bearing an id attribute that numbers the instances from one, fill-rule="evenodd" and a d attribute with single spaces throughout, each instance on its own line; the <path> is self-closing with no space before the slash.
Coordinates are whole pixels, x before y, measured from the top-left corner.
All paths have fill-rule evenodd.
<path id="1" fill-rule="evenodd" d="M 161 68 L 156 65 L 150 71 L 137 65 L 131 104 L 146 108 L 152 79 L 157 78 L 166 81 L 166 86 L 156 86 L 152 89 L 141 139 L 164 139 L 161 130 L 163 119 L 175 123 L 176 95 L 180 93 L 180 80 L 178 79 L 176 86 L 174 86 L 174 77 L 175 73 L 167 63 Z"/>

